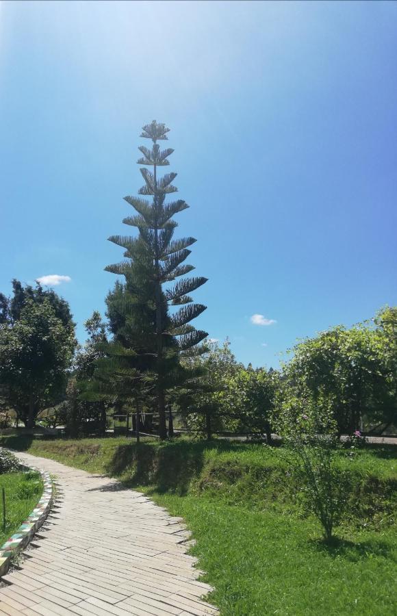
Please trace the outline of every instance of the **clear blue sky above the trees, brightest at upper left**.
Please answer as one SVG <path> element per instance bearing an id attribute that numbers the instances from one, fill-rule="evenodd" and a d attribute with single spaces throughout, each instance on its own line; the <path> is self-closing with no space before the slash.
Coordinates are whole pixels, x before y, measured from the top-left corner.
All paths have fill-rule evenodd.
<path id="1" fill-rule="evenodd" d="M 70 277 L 84 339 L 155 118 L 209 278 L 195 324 L 240 361 L 396 304 L 396 34 L 382 1 L 1 2 L 0 290 Z"/>

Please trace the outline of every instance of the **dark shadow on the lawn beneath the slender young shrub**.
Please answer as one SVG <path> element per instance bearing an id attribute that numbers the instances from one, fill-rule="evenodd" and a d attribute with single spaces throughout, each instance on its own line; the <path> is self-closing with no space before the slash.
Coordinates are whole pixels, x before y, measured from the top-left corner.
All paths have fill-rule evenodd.
<path id="1" fill-rule="evenodd" d="M 342 537 L 333 537 L 331 541 L 324 539 L 310 539 L 309 544 L 317 552 L 329 554 L 331 558 L 342 558 L 348 561 L 357 562 L 363 559 L 370 559 L 373 556 L 383 556 L 383 558 L 397 562 L 393 546 L 382 539 L 371 539 L 369 541 L 349 541 Z"/>

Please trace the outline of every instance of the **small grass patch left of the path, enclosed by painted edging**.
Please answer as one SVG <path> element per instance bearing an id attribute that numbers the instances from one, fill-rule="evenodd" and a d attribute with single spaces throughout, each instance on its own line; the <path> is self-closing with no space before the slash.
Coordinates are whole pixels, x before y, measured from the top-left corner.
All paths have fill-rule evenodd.
<path id="1" fill-rule="evenodd" d="M 1 489 L 5 490 L 5 530 L 3 528 L 3 502 L 0 498 L 0 546 L 21 526 L 41 498 L 43 483 L 36 472 L 0 474 Z"/>

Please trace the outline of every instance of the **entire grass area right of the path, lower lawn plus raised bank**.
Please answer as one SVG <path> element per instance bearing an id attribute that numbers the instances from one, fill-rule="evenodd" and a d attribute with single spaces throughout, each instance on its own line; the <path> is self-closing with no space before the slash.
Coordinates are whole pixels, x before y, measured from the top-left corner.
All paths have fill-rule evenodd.
<path id="1" fill-rule="evenodd" d="M 118 476 L 182 515 L 222 615 L 397 613 L 396 448 L 340 453 L 352 497 L 337 540 L 326 546 L 316 520 L 301 513 L 283 448 L 188 439 L 137 448 L 125 437 L 1 444 Z"/>

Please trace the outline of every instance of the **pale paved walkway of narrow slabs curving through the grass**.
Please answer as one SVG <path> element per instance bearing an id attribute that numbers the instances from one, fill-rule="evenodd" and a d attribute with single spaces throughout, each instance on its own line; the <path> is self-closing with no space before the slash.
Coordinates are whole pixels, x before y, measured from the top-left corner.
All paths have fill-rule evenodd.
<path id="1" fill-rule="evenodd" d="M 59 500 L 3 578 L 0 615 L 204 616 L 218 614 L 201 596 L 189 533 L 141 493 L 114 479 L 18 454 L 57 476 Z"/>

